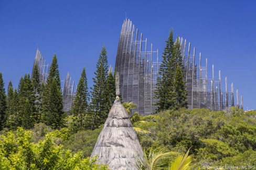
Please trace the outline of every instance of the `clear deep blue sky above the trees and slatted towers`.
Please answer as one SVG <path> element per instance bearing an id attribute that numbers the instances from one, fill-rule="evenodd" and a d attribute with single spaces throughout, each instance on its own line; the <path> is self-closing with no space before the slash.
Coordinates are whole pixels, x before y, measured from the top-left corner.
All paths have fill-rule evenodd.
<path id="1" fill-rule="evenodd" d="M 7 88 L 32 70 L 36 49 L 50 64 L 57 54 L 61 79 L 78 83 L 85 66 L 92 86 L 103 44 L 115 64 L 123 20 L 130 18 L 162 55 L 170 28 L 196 47 L 256 109 L 256 1 L 0 1 L 0 72 Z M 208 71 L 211 73 L 210 67 Z M 222 81 L 223 84 L 223 81 Z M 222 88 L 223 90 L 223 88 Z"/>

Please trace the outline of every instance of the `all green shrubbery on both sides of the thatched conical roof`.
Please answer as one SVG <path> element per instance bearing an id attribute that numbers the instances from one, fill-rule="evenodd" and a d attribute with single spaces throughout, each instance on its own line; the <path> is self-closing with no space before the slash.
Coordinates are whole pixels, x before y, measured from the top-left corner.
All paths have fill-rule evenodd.
<path id="1" fill-rule="evenodd" d="M 179 109 L 146 117 L 134 114 L 131 121 L 139 129 L 137 135 L 147 155 L 152 149 L 159 152 L 164 148 L 178 153 L 186 153 L 190 149 L 189 154 L 193 157 L 191 169 L 197 169 L 206 165 L 256 165 L 255 116 L 256 111 L 244 112 L 235 107 L 230 113 Z M 8 132 L 3 130 L 0 136 L 0 167 L 40 169 L 41 166 L 52 165 L 63 169 L 99 168 L 94 158 L 86 157 L 91 155 L 100 131 L 74 133 L 69 128 L 52 130 L 43 123 L 35 124 L 27 131 L 22 128 Z M 44 160 L 44 165 L 37 160 Z"/>

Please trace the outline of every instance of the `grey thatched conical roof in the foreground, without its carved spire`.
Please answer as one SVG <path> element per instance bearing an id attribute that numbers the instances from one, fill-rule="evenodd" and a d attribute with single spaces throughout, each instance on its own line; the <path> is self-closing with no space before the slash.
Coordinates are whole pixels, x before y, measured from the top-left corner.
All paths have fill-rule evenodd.
<path id="1" fill-rule="evenodd" d="M 91 156 L 98 155 L 99 163 L 112 170 L 136 169 L 137 159 L 143 156 L 129 115 L 116 99 L 94 146 Z"/>

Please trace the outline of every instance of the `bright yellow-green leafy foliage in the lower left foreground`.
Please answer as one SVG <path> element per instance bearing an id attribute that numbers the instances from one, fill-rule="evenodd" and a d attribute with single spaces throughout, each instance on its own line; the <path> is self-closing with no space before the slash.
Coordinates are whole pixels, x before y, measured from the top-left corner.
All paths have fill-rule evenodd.
<path id="1" fill-rule="evenodd" d="M 84 157 L 81 152 L 72 154 L 58 145 L 60 131 L 46 134 L 44 140 L 34 141 L 33 131 L 18 128 L 0 135 L 0 169 L 108 169 L 96 163 L 97 157 Z"/>

